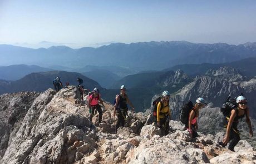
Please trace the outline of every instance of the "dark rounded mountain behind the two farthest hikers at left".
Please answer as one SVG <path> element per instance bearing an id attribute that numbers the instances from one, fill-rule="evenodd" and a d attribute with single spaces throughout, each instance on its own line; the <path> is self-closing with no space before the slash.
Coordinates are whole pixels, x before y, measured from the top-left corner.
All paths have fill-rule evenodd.
<path id="1" fill-rule="evenodd" d="M 56 76 L 60 76 L 61 82 L 63 86 L 65 86 L 66 82 L 69 82 L 70 85 L 78 85 L 77 77 L 81 77 L 83 79 L 83 86 L 85 88 L 90 89 L 91 91 L 93 88 L 97 87 L 101 91 L 103 88 L 90 78 L 83 76 L 80 73 L 76 72 L 65 72 L 65 71 L 50 71 L 50 72 L 37 72 L 37 73 L 30 73 L 24 76 L 17 81 L 4 81 L 0 80 L 0 94 L 3 93 L 13 93 L 13 92 L 20 92 L 20 91 L 37 91 L 42 92 L 47 90 L 48 88 L 53 87 L 53 79 Z"/>

